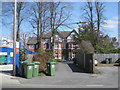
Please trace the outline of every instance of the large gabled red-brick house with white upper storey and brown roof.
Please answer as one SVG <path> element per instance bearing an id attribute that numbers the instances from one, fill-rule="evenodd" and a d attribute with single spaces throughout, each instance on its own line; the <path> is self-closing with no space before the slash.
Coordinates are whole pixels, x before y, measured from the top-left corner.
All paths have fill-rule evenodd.
<path id="1" fill-rule="evenodd" d="M 78 36 L 78 33 L 73 31 L 56 31 L 55 32 L 55 59 L 59 60 L 71 60 L 75 57 L 73 50 L 76 44 L 73 40 L 74 36 Z M 48 32 L 42 38 L 41 47 L 43 49 L 51 49 L 52 33 Z M 27 42 L 27 50 L 35 52 L 38 49 L 37 38 L 29 37 Z"/>

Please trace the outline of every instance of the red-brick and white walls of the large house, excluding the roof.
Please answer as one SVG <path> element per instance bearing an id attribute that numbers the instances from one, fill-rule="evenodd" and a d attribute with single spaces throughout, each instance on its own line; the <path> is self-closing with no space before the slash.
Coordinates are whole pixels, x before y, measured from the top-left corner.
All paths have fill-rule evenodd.
<path id="1" fill-rule="evenodd" d="M 68 57 L 69 57 L 69 52 L 70 52 L 70 60 L 72 60 L 72 53 L 73 53 L 73 48 L 72 48 L 72 44 L 71 43 L 71 40 L 73 40 L 73 35 L 76 35 L 75 32 L 72 32 L 67 38 L 63 39 L 59 36 L 59 34 L 56 34 L 55 35 L 55 41 L 59 41 L 59 44 L 58 44 L 58 48 L 55 49 L 55 52 L 58 52 L 58 58 L 57 59 L 63 59 L 63 56 L 65 57 L 65 59 L 68 60 Z M 66 40 L 67 39 L 67 40 Z M 47 38 L 47 39 L 42 39 L 41 41 L 41 47 L 43 48 L 43 44 L 45 43 L 45 49 L 47 48 L 47 43 L 50 44 L 52 42 L 52 37 L 51 38 Z M 66 48 L 64 48 L 64 44 L 66 44 Z M 68 47 L 68 44 L 70 44 L 70 48 Z M 59 48 L 61 45 L 61 48 Z M 52 47 L 50 48 L 47 48 L 47 49 L 51 49 Z M 35 49 L 30 49 L 29 48 L 29 45 L 27 45 L 27 49 L 30 50 L 30 51 L 33 51 L 35 52 Z M 65 55 L 63 55 L 62 52 L 65 52 Z M 61 58 L 59 58 L 59 53 L 61 53 Z"/>

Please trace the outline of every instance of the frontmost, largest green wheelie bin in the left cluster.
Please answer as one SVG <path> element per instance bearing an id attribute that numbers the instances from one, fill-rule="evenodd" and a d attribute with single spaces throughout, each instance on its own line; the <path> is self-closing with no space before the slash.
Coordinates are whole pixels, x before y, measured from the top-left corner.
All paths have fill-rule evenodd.
<path id="1" fill-rule="evenodd" d="M 27 78 L 27 79 L 32 78 L 34 63 L 24 62 L 23 65 L 24 65 L 24 76 L 25 76 L 25 78 Z"/>

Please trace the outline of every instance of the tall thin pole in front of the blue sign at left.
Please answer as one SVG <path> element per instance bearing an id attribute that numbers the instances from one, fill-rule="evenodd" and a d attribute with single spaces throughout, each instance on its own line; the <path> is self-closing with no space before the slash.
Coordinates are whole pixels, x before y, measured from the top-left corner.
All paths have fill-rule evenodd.
<path id="1" fill-rule="evenodd" d="M 14 31 L 13 31 L 13 75 L 16 75 L 16 11 L 17 11 L 17 0 L 14 5 Z"/>

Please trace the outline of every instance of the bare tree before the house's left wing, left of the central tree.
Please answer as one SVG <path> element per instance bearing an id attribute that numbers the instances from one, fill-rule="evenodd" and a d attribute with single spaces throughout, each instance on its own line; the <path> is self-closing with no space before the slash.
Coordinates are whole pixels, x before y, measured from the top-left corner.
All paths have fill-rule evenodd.
<path id="1" fill-rule="evenodd" d="M 29 13 L 32 15 L 30 18 L 31 25 L 37 29 L 37 42 L 38 47 L 41 47 L 41 40 L 43 34 L 48 30 L 48 3 L 47 2 L 36 2 L 31 6 Z"/>

